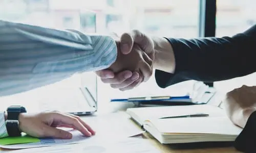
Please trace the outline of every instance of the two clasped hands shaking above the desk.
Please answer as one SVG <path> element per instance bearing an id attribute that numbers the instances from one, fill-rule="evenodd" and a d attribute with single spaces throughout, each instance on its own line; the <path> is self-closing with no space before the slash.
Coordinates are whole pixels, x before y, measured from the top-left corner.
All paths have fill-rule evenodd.
<path id="1" fill-rule="evenodd" d="M 124 91 L 150 79 L 155 59 L 153 40 L 134 30 L 122 34 L 116 45 L 116 61 L 108 69 L 96 71 L 101 81 Z"/>

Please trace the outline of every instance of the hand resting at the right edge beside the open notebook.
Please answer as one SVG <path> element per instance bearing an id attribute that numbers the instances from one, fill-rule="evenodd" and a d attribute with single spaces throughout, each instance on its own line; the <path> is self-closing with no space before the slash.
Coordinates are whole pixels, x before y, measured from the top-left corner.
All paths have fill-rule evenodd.
<path id="1" fill-rule="evenodd" d="M 256 111 L 256 86 L 234 89 L 223 100 L 230 120 L 244 127 L 252 112 Z"/>

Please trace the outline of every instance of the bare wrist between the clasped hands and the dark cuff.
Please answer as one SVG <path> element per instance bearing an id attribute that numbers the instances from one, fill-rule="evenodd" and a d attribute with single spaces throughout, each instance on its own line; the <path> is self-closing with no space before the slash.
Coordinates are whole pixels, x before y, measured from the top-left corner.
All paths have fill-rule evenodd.
<path id="1" fill-rule="evenodd" d="M 154 68 L 174 73 L 175 57 L 172 45 L 162 37 L 152 37 L 155 48 Z"/>

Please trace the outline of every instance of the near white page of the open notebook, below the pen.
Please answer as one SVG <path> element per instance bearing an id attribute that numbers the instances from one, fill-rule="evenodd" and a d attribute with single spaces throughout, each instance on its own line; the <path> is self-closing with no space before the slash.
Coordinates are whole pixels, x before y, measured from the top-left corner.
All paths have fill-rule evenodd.
<path id="1" fill-rule="evenodd" d="M 145 121 L 163 135 L 171 134 L 220 134 L 239 135 L 242 129 L 227 117 L 185 117 Z"/>

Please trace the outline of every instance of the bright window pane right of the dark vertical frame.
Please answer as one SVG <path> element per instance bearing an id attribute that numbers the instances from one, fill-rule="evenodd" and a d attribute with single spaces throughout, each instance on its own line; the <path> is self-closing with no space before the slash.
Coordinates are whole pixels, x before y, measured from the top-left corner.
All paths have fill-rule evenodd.
<path id="1" fill-rule="evenodd" d="M 218 0 L 216 36 L 232 37 L 256 24 L 255 5 L 256 2 L 253 0 Z M 226 92 L 242 85 L 256 85 L 255 78 L 256 73 L 252 73 L 245 77 L 216 82 L 215 87 L 220 91 Z"/>

